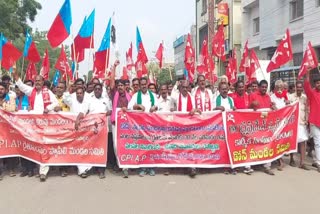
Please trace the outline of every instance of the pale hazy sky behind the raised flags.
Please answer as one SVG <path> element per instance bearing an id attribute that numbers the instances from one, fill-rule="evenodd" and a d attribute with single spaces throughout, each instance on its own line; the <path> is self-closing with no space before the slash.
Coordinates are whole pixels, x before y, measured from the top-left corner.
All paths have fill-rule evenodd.
<path id="1" fill-rule="evenodd" d="M 48 30 L 64 0 L 38 1 L 42 4 L 42 10 L 38 12 L 31 26 L 40 31 Z M 115 12 L 117 46 L 121 63 L 125 60 L 130 42 L 134 47 L 133 58 L 136 58 L 136 26 L 140 29 L 149 59 L 154 57 L 160 42 L 164 41 L 165 62 L 173 62 L 174 40 L 190 32 L 191 25 L 195 24 L 194 0 L 71 0 L 71 8 L 73 37 L 78 33 L 84 17 L 96 9 L 95 49 L 99 48 L 108 20 Z M 72 36 L 66 40 L 66 45 L 71 44 L 71 38 Z M 86 54 L 89 56 L 89 51 Z M 92 68 L 92 62 L 88 60 L 82 62 L 80 73 L 89 68 Z"/>

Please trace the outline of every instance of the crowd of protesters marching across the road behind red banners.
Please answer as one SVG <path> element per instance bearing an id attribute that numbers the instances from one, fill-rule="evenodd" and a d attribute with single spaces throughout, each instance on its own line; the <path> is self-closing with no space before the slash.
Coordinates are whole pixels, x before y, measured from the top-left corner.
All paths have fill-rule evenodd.
<path id="1" fill-rule="evenodd" d="M 81 120 L 87 114 L 105 113 L 108 117 L 108 162 L 106 167 L 115 171 L 121 171 L 125 178 L 129 176 L 129 169 L 119 169 L 115 156 L 115 110 L 122 111 L 140 110 L 143 112 L 184 112 L 189 114 L 201 114 L 206 111 L 238 110 L 238 109 L 267 109 L 276 110 L 294 102 L 299 102 L 299 128 L 298 145 L 300 160 L 298 167 L 310 170 L 305 164 L 306 154 L 313 157 L 312 164 L 320 172 L 320 117 L 317 110 L 320 109 L 320 79 L 315 79 L 311 84 L 309 74 L 305 81 L 297 81 L 295 85 L 288 86 L 282 80 L 275 81 L 274 86 L 268 91 L 269 83 L 266 80 L 245 83 L 239 80 L 235 84 L 228 83 L 226 76 L 219 78 L 217 87 L 210 85 L 204 76 L 198 75 L 196 84 L 187 80 L 177 80 L 175 83 L 157 85 L 149 83 L 142 77 L 132 81 L 115 80 L 115 70 L 119 65 L 116 61 L 111 69 L 111 77 L 108 81 L 93 78 L 88 83 L 82 79 L 74 82 L 60 81 L 53 86 L 45 81 L 42 76 L 36 76 L 35 80 L 22 81 L 18 72 L 14 70 L 12 78 L 2 76 L 0 82 L 0 108 L 6 111 L 29 112 L 47 114 L 49 112 L 72 112 L 77 114 L 75 129 L 81 126 Z M 108 82 L 108 84 L 106 84 Z M 13 84 L 14 83 L 14 84 Z M 311 85 L 314 85 L 312 88 Z M 313 152 L 314 150 L 314 152 Z M 290 155 L 290 166 L 297 166 L 295 154 Z M 284 161 L 280 158 L 277 169 L 282 171 Z M 0 180 L 3 179 L 3 171 L 6 169 L 10 177 L 16 176 L 21 169 L 20 176 L 37 176 L 40 181 L 45 181 L 51 167 L 37 165 L 24 158 L 0 159 Z M 70 167 L 58 167 L 60 175 L 65 177 L 70 172 Z M 262 166 L 268 175 L 274 175 L 271 162 Z M 198 170 L 191 168 L 189 175 L 195 177 Z M 246 174 L 254 172 L 252 167 L 241 169 Z M 88 177 L 94 172 L 99 178 L 105 178 L 105 168 L 93 168 L 92 166 L 78 166 L 78 175 Z M 240 169 L 225 169 L 225 173 L 236 174 Z M 154 168 L 141 168 L 137 170 L 140 176 L 156 174 Z M 169 170 L 165 170 L 169 175 Z"/>

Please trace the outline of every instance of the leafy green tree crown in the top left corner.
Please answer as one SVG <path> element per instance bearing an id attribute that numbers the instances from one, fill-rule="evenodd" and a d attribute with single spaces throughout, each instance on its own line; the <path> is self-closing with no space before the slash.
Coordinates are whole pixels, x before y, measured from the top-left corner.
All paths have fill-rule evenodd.
<path id="1" fill-rule="evenodd" d="M 0 0 L 0 32 L 13 41 L 23 37 L 41 9 L 36 0 Z"/>

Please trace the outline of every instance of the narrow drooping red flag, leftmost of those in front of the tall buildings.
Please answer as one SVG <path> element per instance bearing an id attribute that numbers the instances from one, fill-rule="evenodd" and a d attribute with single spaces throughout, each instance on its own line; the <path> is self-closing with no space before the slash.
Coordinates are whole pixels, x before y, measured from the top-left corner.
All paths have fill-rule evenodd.
<path id="1" fill-rule="evenodd" d="M 192 47 L 191 35 L 188 34 L 187 45 L 184 55 L 184 65 L 188 71 L 189 82 L 193 82 L 195 71 L 195 51 Z"/>

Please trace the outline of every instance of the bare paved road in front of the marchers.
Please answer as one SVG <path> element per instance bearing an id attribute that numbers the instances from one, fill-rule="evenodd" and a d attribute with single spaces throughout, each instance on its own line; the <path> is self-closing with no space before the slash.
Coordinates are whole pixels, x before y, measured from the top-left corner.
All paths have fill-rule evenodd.
<path id="1" fill-rule="evenodd" d="M 55 174 L 45 183 L 5 176 L 0 213 L 319 213 L 320 173 L 290 166 L 276 176 L 214 172 L 195 179 L 183 174 L 123 179 L 108 172 L 104 180 Z"/>

